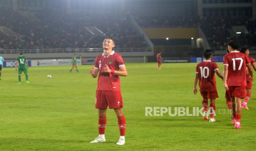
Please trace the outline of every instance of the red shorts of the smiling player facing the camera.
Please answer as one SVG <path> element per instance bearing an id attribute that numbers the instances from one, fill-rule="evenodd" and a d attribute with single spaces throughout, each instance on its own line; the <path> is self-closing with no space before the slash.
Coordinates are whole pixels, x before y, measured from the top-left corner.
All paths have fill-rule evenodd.
<path id="1" fill-rule="evenodd" d="M 123 107 L 123 99 L 120 91 L 96 91 L 95 108 L 106 109 Z"/>

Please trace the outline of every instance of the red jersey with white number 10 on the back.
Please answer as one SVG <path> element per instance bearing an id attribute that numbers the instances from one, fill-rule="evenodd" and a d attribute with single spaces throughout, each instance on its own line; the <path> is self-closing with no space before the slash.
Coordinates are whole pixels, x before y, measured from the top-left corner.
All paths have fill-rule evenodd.
<path id="1" fill-rule="evenodd" d="M 215 71 L 219 69 L 217 64 L 210 60 L 198 63 L 195 72 L 198 73 L 199 87 L 201 92 L 217 91 Z"/>

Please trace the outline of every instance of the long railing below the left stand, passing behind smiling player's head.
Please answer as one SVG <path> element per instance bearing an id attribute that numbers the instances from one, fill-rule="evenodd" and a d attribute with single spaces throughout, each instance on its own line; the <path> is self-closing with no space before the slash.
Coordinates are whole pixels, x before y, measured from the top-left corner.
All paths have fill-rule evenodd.
<path id="1" fill-rule="evenodd" d="M 116 52 L 150 52 L 146 48 L 115 48 Z M 100 53 L 102 48 L 66 48 L 66 49 L 0 49 L 0 54 L 46 54 L 46 53 Z"/>

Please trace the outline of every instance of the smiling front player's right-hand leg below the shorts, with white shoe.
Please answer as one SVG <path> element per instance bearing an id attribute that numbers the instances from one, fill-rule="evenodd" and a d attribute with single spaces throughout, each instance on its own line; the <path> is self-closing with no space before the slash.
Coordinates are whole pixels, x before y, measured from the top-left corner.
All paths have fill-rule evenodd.
<path id="1" fill-rule="evenodd" d="M 126 143 L 126 140 L 124 138 L 124 136 L 126 135 L 126 118 L 124 117 L 122 107 L 116 108 L 115 112 L 118 118 L 118 126 L 120 131 L 120 137 L 116 144 L 123 145 L 124 143 Z"/>

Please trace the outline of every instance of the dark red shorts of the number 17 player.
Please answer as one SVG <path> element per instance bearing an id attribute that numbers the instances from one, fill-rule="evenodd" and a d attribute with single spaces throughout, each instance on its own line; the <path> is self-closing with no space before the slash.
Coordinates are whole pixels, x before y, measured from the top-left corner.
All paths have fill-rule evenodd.
<path id="1" fill-rule="evenodd" d="M 228 95 L 230 98 L 246 97 L 246 86 L 228 86 Z"/>

